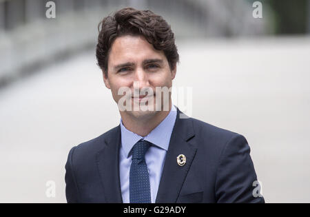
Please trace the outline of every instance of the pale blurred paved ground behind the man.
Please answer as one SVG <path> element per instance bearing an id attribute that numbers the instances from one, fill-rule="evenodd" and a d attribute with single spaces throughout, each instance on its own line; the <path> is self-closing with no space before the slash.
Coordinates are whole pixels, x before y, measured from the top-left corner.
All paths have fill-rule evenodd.
<path id="1" fill-rule="evenodd" d="M 247 138 L 266 202 L 310 203 L 310 39 L 177 43 L 187 113 Z M 95 62 L 85 52 L 1 90 L 1 203 L 65 203 L 70 148 L 118 124 Z"/>

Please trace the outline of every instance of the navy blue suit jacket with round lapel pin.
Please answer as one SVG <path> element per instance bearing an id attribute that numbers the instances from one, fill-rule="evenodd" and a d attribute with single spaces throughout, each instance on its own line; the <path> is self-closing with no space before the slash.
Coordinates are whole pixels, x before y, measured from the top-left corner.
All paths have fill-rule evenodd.
<path id="1" fill-rule="evenodd" d="M 172 131 L 156 203 L 264 203 L 244 136 L 194 118 Z M 119 178 L 120 125 L 73 147 L 65 165 L 68 203 L 123 203 Z M 178 165 L 176 157 L 186 156 Z"/>

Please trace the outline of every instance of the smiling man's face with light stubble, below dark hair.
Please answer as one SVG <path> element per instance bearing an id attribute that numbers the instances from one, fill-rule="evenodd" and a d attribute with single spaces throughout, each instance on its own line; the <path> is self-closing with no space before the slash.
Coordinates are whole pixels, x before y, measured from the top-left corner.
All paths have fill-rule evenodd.
<path id="1" fill-rule="evenodd" d="M 162 50 L 155 50 L 153 45 L 145 39 L 130 35 L 115 39 L 110 50 L 107 68 L 107 76 L 103 76 L 105 86 L 111 90 L 116 103 L 125 95 L 118 94 L 118 90 L 121 87 L 127 87 L 131 90 L 132 97 L 130 97 L 130 101 L 132 103 L 132 110 L 125 110 L 125 112 L 135 118 L 152 116 L 152 114 L 154 115 L 158 112 L 154 106 L 156 103 L 156 87 L 172 87 L 172 80 L 176 75 L 176 66 L 174 66 L 174 70 L 170 69 Z M 139 92 L 141 89 L 145 89 L 145 87 L 153 90 L 153 111 L 134 111 L 134 104 L 139 105 L 143 101 L 147 102 L 147 97 L 138 99 L 138 95 L 138 98 L 133 98 L 134 87 Z M 147 93 L 140 94 L 140 98 L 145 94 Z M 169 94 L 169 101 L 170 98 L 171 94 Z M 147 105 L 147 103 L 145 104 Z M 163 100 L 161 105 L 161 110 L 163 110 Z"/>

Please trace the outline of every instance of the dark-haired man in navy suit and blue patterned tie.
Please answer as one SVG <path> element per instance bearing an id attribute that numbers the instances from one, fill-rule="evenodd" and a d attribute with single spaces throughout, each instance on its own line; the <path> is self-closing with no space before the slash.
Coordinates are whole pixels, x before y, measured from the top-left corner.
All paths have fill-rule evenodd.
<path id="1" fill-rule="evenodd" d="M 245 137 L 185 116 L 157 91 L 171 90 L 178 62 L 162 17 L 105 17 L 96 57 L 121 121 L 70 150 L 68 203 L 264 203 Z"/>

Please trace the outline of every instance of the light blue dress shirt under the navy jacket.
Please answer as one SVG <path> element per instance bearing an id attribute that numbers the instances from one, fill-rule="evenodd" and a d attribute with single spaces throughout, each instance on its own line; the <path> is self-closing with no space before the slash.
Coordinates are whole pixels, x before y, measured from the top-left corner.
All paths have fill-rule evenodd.
<path id="1" fill-rule="evenodd" d="M 145 153 L 145 162 L 149 171 L 149 185 L 151 187 L 151 201 L 155 203 L 165 156 L 169 147 L 170 137 L 176 122 L 176 107 L 172 105 L 165 119 L 147 136 L 142 137 L 127 130 L 121 120 L 121 149 L 119 152 L 119 172 L 123 203 L 130 203 L 130 165 L 132 163 L 132 147 L 141 139 L 154 144 Z"/>

